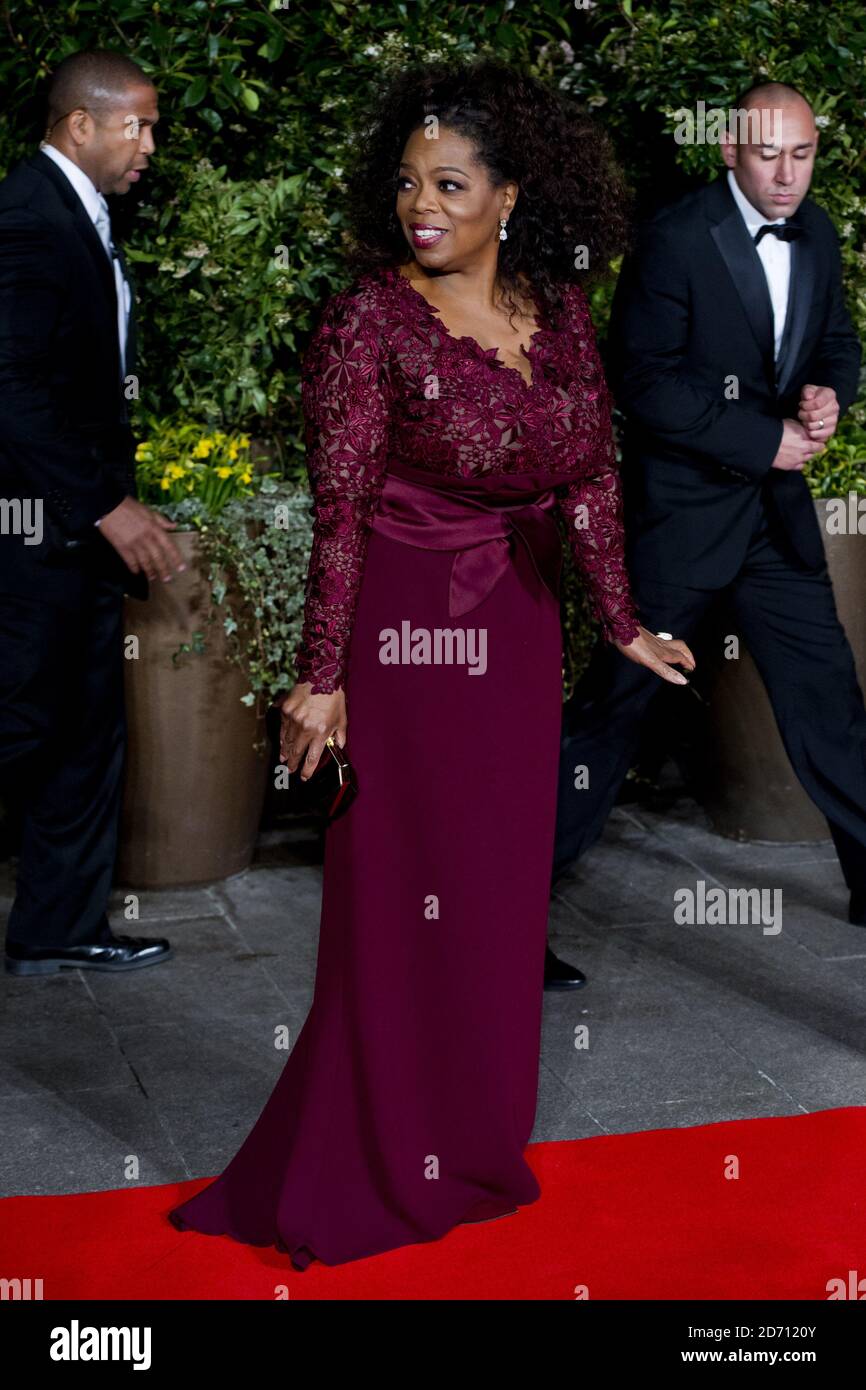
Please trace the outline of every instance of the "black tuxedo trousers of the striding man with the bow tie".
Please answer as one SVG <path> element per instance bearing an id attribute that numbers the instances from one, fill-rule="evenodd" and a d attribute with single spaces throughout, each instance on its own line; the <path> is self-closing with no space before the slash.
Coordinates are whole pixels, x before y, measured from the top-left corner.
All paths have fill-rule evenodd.
<path id="1" fill-rule="evenodd" d="M 794 771 L 830 823 L 848 888 L 866 905 L 866 709 L 826 564 L 798 566 L 762 505 L 742 569 L 721 595 L 648 578 L 635 578 L 634 595 L 645 627 L 685 642 L 714 600 L 731 603 Z M 652 671 L 598 644 L 563 709 L 553 883 L 602 834 L 660 688 Z M 575 787 L 577 767 L 588 785 Z"/>

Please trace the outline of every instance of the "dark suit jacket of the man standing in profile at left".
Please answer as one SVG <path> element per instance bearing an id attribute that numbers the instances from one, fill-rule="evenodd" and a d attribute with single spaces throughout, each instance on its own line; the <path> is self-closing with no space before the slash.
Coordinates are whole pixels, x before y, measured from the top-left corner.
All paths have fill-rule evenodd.
<path id="1" fill-rule="evenodd" d="M 38 152 L 0 182 L 0 496 L 42 499 L 44 537 L 0 537 L 3 582 L 47 598 L 88 569 L 143 598 L 146 578 L 95 527 L 135 495 L 111 263 L 68 178 Z"/>

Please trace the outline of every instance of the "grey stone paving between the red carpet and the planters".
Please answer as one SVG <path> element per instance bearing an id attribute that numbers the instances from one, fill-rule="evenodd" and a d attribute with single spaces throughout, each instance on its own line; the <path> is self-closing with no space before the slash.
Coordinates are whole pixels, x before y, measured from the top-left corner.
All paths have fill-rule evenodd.
<path id="1" fill-rule="evenodd" d="M 699 880 L 780 890 L 781 931 L 678 924 Z M 7 863 L 3 916 L 11 894 Z M 113 895 L 115 931 L 168 937 L 165 965 L 4 976 L 0 1193 L 220 1172 L 309 1011 L 320 895 L 314 831 L 271 828 L 245 874 L 142 891 L 135 920 Z M 550 902 L 550 942 L 589 983 L 545 994 L 534 1140 L 866 1104 L 866 930 L 845 909 L 830 841 L 723 840 L 685 799 L 617 808 Z"/>

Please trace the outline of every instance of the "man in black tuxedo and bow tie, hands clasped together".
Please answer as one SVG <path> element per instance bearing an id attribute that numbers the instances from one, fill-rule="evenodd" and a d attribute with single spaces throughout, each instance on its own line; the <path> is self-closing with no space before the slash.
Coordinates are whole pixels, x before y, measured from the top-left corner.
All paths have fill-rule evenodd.
<path id="1" fill-rule="evenodd" d="M 812 108 L 762 83 L 737 110 L 726 174 L 649 221 L 614 296 L 630 570 L 662 637 L 689 641 L 730 599 L 865 926 L 866 710 L 803 478 L 856 396 L 860 345 L 835 231 L 806 199 Z M 628 656 L 599 646 L 564 710 L 555 883 L 602 833 L 656 694 Z"/>

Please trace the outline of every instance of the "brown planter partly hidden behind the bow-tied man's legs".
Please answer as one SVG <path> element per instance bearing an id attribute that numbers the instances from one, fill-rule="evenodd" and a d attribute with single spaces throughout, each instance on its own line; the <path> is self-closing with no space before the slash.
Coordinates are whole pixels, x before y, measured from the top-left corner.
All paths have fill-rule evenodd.
<path id="1" fill-rule="evenodd" d="M 866 537 L 828 535 L 816 503 L 840 620 L 866 684 Z M 701 801 L 713 828 L 731 840 L 828 840 L 826 819 L 788 763 L 770 701 L 745 645 L 721 660 L 709 691 L 708 777 Z"/>

